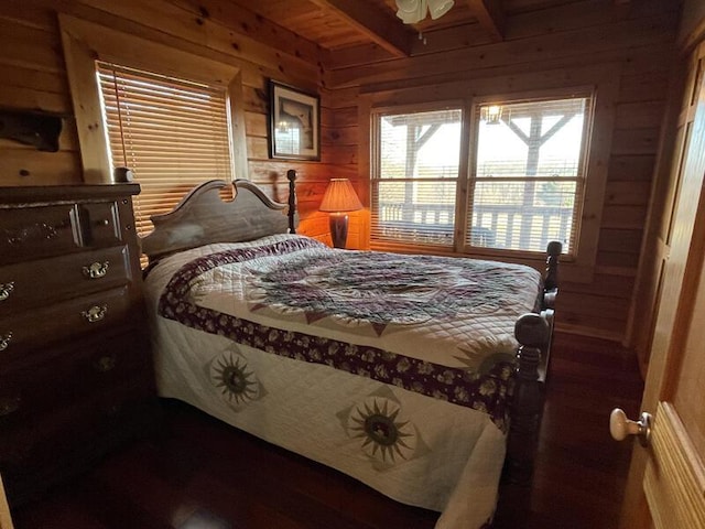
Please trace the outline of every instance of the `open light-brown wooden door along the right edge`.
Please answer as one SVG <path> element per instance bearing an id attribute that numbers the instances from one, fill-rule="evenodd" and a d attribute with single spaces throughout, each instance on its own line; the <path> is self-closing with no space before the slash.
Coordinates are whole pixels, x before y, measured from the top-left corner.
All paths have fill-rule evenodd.
<path id="1" fill-rule="evenodd" d="M 705 528 L 705 44 L 692 55 L 673 171 L 676 206 L 622 529 Z"/>

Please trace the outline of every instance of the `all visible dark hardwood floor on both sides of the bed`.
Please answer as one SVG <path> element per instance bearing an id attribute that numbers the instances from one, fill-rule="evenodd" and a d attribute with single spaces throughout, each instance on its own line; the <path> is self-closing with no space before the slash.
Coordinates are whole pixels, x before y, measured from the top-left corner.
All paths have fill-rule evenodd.
<path id="1" fill-rule="evenodd" d="M 620 347 L 557 335 L 533 485 L 502 485 L 496 529 L 616 528 L 631 443 L 608 415 L 636 415 L 641 380 Z M 165 402 L 159 439 L 137 442 L 13 511 L 15 529 L 432 528 L 403 506 L 194 409 Z"/>

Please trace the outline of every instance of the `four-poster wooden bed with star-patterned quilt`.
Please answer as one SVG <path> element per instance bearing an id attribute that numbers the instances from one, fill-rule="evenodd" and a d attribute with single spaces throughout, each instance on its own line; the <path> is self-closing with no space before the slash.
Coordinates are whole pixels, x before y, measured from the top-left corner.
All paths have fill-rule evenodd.
<path id="1" fill-rule="evenodd" d="M 145 296 L 160 396 L 337 468 L 445 528 L 491 522 L 531 473 L 557 292 L 547 272 L 332 249 L 289 204 L 212 181 L 153 217 Z"/>

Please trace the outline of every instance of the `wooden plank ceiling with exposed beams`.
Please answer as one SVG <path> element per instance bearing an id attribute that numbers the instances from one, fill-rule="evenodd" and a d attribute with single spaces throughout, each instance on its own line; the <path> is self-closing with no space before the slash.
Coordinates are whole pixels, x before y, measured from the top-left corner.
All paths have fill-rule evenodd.
<path id="1" fill-rule="evenodd" d="M 174 1 L 199 4 L 198 0 Z M 543 13 L 551 14 L 556 9 L 561 14 L 575 10 L 593 18 L 596 13 L 600 18 L 605 13 L 611 17 L 616 1 L 455 0 L 453 8 L 437 20 L 429 15 L 415 24 L 404 24 L 397 17 L 395 0 L 204 0 L 212 15 L 234 11 L 241 19 L 246 11 L 251 13 L 252 22 L 247 24 L 246 32 L 252 39 L 260 40 L 257 34 L 261 33 L 285 53 L 295 50 L 294 55 L 305 60 L 317 55 L 317 63 L 327 71 L 501 43 L 516 37 L 517 17 L 541 20 Z M 218 4 L 224 8 L 216 9 Z M 623 11 L 620 17 L 626 17 Z M 281 29 L 279 33 L 276 28 Z M 280 35 L 284 39 L 279 39 Z M 291 45 L 296 37 L 307 43 L 300 45 L 303 54 Z"/>

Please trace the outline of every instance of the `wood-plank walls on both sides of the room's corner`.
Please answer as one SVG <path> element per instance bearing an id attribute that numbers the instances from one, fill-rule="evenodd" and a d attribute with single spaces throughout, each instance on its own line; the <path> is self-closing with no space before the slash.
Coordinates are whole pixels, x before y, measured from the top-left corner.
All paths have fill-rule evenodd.
<path id="1" fill-rule="evenodd" d="M 516 4 L 517 2 L 509 2 Z M 549 3 L 550 4 L 550 3 Z M 595 274 L 566 281 L 560 299 L 564 330 L 623 341 L 648 213 L 654 159 L 672 64 L 679 2 L 576 0 L 539 13 L 512 13 L 506 40 L 455 48 L 430 43 L 411 58 L 382 58 L 373 46 L 322 53 L 312 43 L 219 0 L 3 0 L 0 2 L 0 107 L 39 108 L 67 117 L 57 153 L 0 140 L 0 185 L 79 183 L 80 156 L 57 23 L 57 12 L 174 47 L 232 62 L 245 73 L 243 101 L 250 177 L 274 198 L 285 198 L 285 173 L 300 175 L 301 231 L 326 239 L 327 217 L 316 210 L 327 181 L 350 177 L 367 202 L 368 147 L 360 141 L 368 117 L 360 97 L 416 90 L 433 95 L 484 86 L 514 86 L 530 76 L 563 76 L 607 68 L 618 85 Z M 263 43 L 262 35 L 274 34 Z M 257 36 L 257 39 L 254 36 Z M 456 46 L 457 47 L 457 46 Z M 267 149 L 267 79 L 318 90 L 322 161 L 272 161 Z M 452 88 L 447 88 L 452 87 Z M 465 87 L 465 88 L 464 88 Z M 518 88 L 517 88 L 518 89 Z M 362 127 L 361 127 L 362 126 Z M 368 214 L 354 215 L 349 246 L 368 241 Z M 639 310 L 633 322 L 639 322 Z"/>

